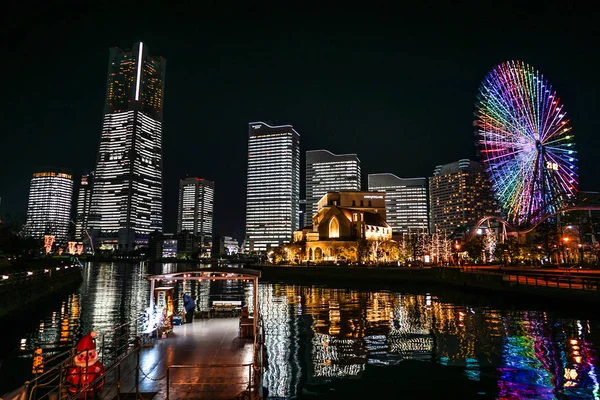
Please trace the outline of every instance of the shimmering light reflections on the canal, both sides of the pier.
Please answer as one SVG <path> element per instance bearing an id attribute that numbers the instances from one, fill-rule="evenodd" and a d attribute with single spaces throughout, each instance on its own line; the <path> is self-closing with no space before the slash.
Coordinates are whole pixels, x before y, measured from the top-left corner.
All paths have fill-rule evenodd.
<path id="1" fill-rule="evenodd" d="M 80 289 L 15 344 L 19 357 L 31 361 L 27 373 L 41 372 L 40 360 L 70 348 L 81 334 L 142 315 L 149 299 L 147 274 L 177 268 L 86 266 Z M 252 290 L 239 281 L 184 281 L 175 298 L 190 293 L 197 311 L 208 311 L 220 298 L 243 299 L 252 308 Z M 423 375 L 432 365 L 459 369 L 464 382 L 499 398 L 600 399 L 597 319 L 474 307 L 434 293 L 261 283 L 259 296 L 270 396 L 301 396 L 307 385 L 367 379 L 368 369 L 416 360 Z"/>

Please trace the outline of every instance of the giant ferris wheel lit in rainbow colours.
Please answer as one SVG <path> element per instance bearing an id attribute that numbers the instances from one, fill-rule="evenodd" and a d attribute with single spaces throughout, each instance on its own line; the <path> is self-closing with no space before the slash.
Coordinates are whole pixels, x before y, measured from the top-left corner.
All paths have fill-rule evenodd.
<path id="1" fill-rule="evenodd" d="M 537 70 L 521 61 L 496 66 L 479 88 L 476 109 L 479 155 L 507 222 L 535 224 L 573 203 L 574 135 Z"/>

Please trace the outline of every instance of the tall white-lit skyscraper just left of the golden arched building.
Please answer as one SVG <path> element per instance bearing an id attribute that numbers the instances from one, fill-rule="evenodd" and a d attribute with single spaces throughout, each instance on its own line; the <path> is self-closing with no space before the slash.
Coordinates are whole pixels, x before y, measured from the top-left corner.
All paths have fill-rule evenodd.
<path id="1" fill-rule="evenodd" d="M 248 125 L 246 249 L 289 242 L 299 227 L 300 135 L 291 125 Z"/>

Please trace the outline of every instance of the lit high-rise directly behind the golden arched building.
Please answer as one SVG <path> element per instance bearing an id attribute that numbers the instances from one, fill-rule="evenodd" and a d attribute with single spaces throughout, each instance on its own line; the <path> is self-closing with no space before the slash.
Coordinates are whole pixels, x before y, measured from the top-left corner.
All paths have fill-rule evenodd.
<path id="1" fill-rule="evenodd" d="M 312 224 L 317 203 L 327 192 L 360 191 L 360 160 L 356 154 L 327 150 L 306 152 L 306 212 L 304 225 Z"/>

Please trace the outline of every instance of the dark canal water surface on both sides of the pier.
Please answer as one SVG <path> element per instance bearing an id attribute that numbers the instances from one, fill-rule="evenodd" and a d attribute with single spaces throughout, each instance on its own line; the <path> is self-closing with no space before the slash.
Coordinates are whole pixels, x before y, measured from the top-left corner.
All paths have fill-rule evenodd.
<path id="1" fill-rule="evenodd" d="M 142 315 L 146 276 L 176 271 L 176 264 L 87 264 L 76 292 L 3 321 L 0 395 L 31 378 L 40 356 Z M 176 297 L 191 293 L 203 310 L 211 296 L 248 298 L 241 285 L 185 282 Z M 271 397 L 600 398 L 600 319 L 577 304 L 318 282 L 262 282 L 259 295 Z"/>

